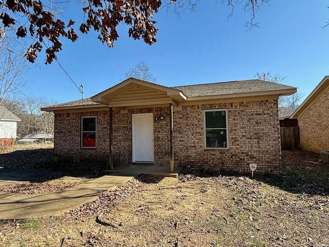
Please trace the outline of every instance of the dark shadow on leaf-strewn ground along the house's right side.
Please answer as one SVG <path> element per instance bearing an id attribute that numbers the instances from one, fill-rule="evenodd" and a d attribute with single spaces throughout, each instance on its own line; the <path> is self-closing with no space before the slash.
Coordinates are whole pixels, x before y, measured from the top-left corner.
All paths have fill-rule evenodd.
<path id="1" fill-rule="evenodd" d="M 282 151 L 282 174 L 259 174 L 257 170 L 252 179 L 278 187 L 291 193 L 307 193 L 309 195 L 329 195 L 329 162 L 319 160 L 318 153 L 304 150 Z M 196 177 L 209 178 L 217 176 L 200 169 L 184 168 L 180 180 L 189 181 Z M 221 176 L 248 177 L 251 173 L 221 173 Z"/>

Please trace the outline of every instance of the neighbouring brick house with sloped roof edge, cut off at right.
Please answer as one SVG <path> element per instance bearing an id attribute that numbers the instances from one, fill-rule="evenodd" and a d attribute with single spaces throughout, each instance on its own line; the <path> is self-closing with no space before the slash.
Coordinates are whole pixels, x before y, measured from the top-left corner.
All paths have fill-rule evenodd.
<path id="1" fill-rule="evenodd" d="M 300 146 L 318 152 L 329 150 L 329 76 L 304 100 L 290 118 L 298 119 Z"/>

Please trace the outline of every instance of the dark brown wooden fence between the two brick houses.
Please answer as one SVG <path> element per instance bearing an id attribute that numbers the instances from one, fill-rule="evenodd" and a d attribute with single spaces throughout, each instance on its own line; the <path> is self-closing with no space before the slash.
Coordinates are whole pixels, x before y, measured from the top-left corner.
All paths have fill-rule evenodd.
<path id="1" fill-rule="evenodd" d="M 281 149 L 300 148 L 299 127 L 281 127 Z"/>

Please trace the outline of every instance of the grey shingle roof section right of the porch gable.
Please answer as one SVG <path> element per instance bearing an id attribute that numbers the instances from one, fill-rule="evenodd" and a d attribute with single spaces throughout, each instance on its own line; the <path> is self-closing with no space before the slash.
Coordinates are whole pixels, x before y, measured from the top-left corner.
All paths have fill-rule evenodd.
<path id="1" fill-rule="evenodd" d="M 173 87 L 173 89 L 180 90 L 187 97 L 197 97 L 197 96 L 286 90 L 286 89 L 295 89 L 295 87 L 254 79 L 254 80 L 217 82 L 217 83 L 189 85 L 189 86 L 175 86 Z"/>

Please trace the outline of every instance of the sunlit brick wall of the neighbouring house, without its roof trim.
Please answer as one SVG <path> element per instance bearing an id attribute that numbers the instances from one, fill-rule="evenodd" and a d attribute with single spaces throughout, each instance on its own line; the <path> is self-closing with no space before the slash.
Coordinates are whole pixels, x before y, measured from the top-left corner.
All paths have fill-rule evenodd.
<path id="1" fill-rule="evenodd" d="M 300 146 L 318 152 L 329 150 L 329 88 L 298 118 Z"/>

